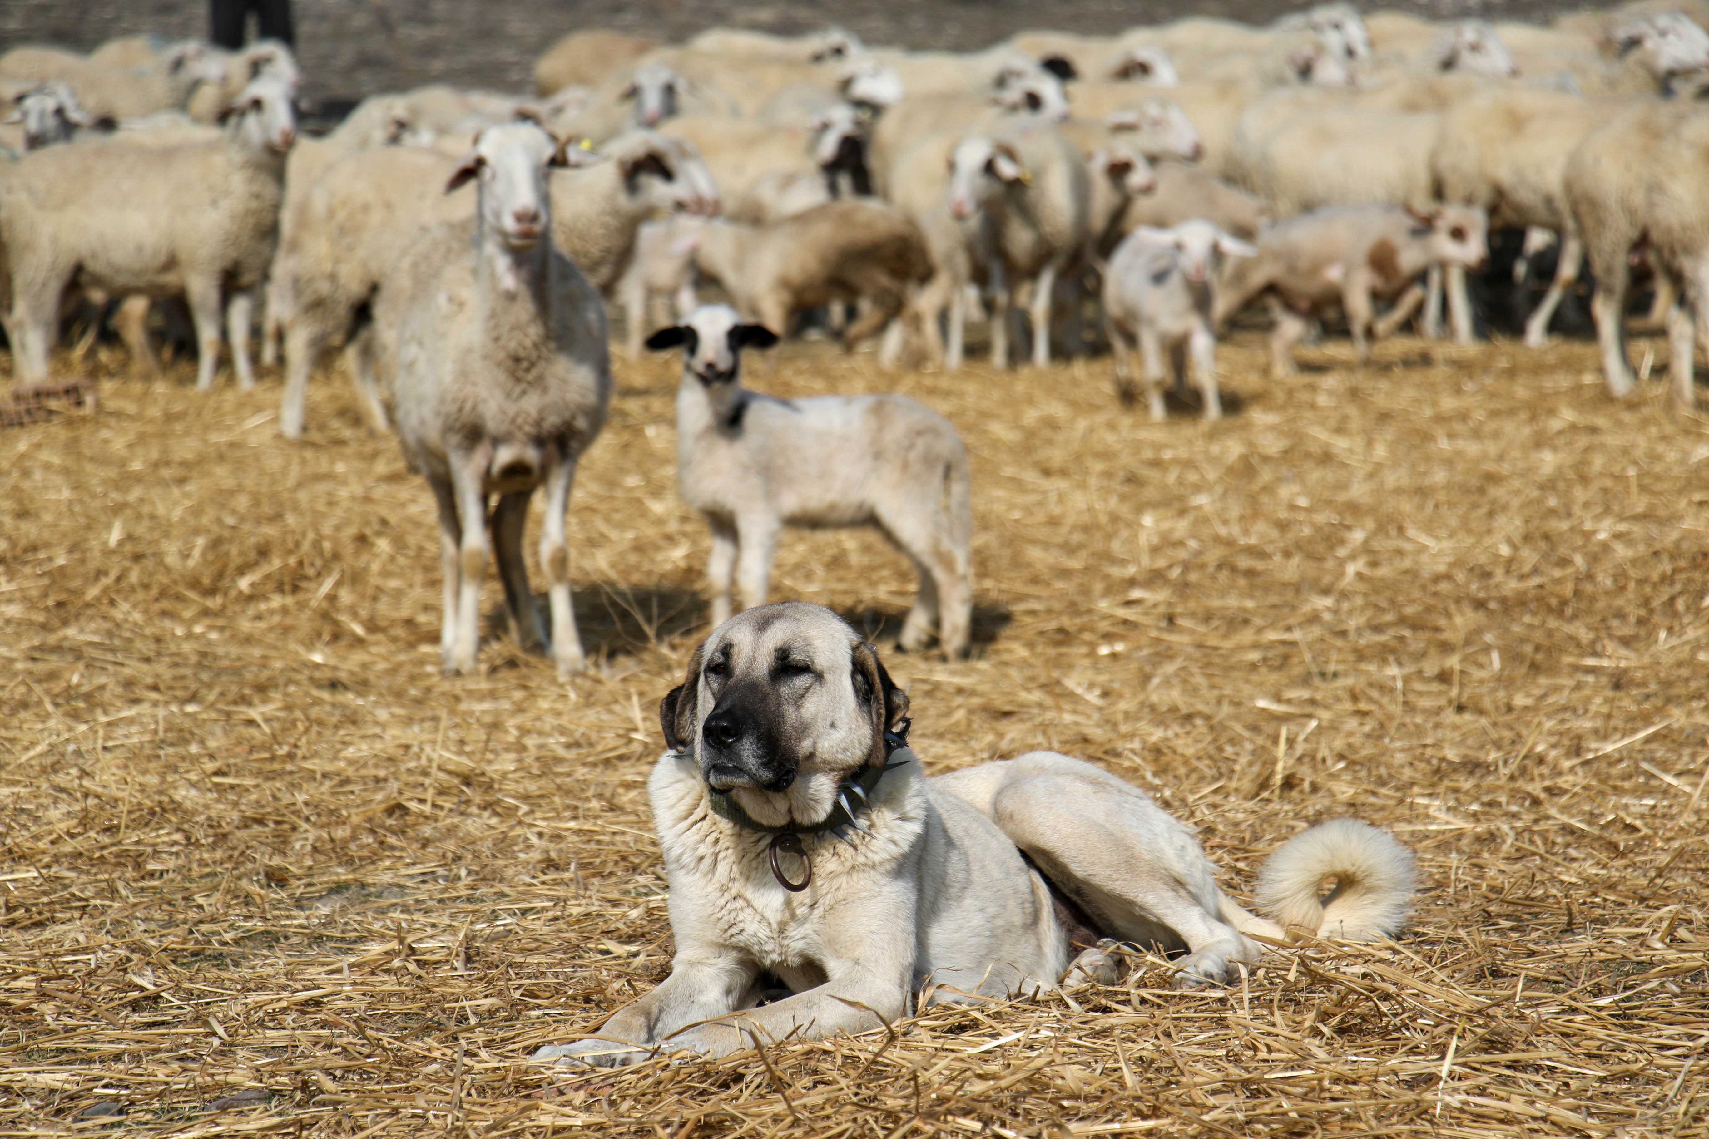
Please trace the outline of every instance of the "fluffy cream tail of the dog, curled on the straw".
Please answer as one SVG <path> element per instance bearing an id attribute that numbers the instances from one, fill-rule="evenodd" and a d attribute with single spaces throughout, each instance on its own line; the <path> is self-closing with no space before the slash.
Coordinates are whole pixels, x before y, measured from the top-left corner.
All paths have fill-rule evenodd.
<path id="1" fill-rule="evenodd" d="M 1335 888 L 1324 895 L 1331 878 Z M 1270 856 L 1258 876 L 1258 908 L 1289 931 L 1374 941 L 1407 924 L 1415 879 L 1412 850 L 1395 835 L 1335 818 Z"/>

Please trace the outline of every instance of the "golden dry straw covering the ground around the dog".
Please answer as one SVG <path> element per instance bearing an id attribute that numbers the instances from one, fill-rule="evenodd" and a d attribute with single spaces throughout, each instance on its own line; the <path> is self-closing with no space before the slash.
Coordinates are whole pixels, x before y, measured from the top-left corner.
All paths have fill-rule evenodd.
<path id="1" fill-rule="evenodd" d="M 617 1074 L 525 1057 L 670 961 L 675 365 L 619 365 L 583 466 L 569 683 L 502 640 L 438 676 L 429 495 L 342 384 L 299 446 L 277 386 L 185 367 L 5 432 L 0 1134 L 1709 1134 L 1704 422 L 1613 405 L 1583 343 L 1309 359 L 1225 350 L 1213 427 L 1119 410 L 1104 360 L 752 383 L 902 389 L 971 446 L 978 656 L 889 654 L 931 765 L 1094 758 L 1236 893 L 1369 818 L 1422 857 L 1413 931 Z M 911 587 L 860 533 L 776 575 L 880 637 Z"/>

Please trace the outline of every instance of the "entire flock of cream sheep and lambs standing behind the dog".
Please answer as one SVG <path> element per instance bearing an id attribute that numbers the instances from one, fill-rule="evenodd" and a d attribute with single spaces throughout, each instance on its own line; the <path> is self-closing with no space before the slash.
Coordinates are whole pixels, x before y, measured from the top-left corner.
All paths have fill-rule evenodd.
<path id="1" fill-rule="evenodd" d="M 473 666 L 496 497 L 513 627 L 574 671 L 564 511 L 610 398 L 602 295 L 632 355 L 667 297 L 677 321 L 651 343 L 684 347 L 682 488 L 713 528 L 714 608 L 733 575 L 745 605 L 764 599 L 779 526 L 875 524 L 921 574 L 904 639 L 938 632 L 955 654 L 971 584 L 954 429 L 901 398 L 767 401 L 740 386 L 743 347 L 812 321 L 849 348 L 882 335 L 885 362 L 955 369 L 983 319 L 996 367 L 1107 343 L 1123 398 L 1136 350 L 1154 415 L 1191 377 L 1215 418 L 1217 335 L 1242 309 L 1268 309 L 1275 371 L 1335 312 L 1360 355 L 1413 318 L 1441 335 L 1444 307 L 1470 340 L 1468 273 L 1492 227 L 1518 227 L 1531 256 L 1559 241 L 1526 342 L 1588 256 L 1605 377 L 1629 393 L 1647 273 L 1690 405 L 1709 340 L 1706 20 L 1709 0 L 1553 27 L 1328 3 L 1271 27 L 1024 32 L 976 53 L 584 31 L 538 60 L 531 96 L 381 94 L 325 137 L 299 137 L 280 44 L 15 48 L 0 323 L 26 381 L 77 318 L 111 316 L 154 367 L 171 307 L 156 302 L 181 297 L 198 386 L 227 342 L 248 388 L 260 307 L 287 437 L 342 345 L 439 504 L 446 668 Z M 708 283 L 733 307 L 699 306 Z M 877 475 L 849 473 L 856 459 Z M 521 557 L 537 488 L 550 622 Z"/>

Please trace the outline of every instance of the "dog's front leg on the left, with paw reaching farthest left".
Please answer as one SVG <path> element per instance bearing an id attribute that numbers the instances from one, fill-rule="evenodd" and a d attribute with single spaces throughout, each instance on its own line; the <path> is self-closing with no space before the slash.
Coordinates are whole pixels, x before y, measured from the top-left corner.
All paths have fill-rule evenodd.
<path id="1" fill-rule="evenodd" d="M 624 1067 L 648 1059 L 658 1045 L 694 1047 L 680 1042 L 680 1030 L 735 1011 L 755 977 L 759 967 L 735 953 L 678 953 L 658 989 L 619 1009 L 596 1033 L 549 1043 L 533 1059 Z"/>

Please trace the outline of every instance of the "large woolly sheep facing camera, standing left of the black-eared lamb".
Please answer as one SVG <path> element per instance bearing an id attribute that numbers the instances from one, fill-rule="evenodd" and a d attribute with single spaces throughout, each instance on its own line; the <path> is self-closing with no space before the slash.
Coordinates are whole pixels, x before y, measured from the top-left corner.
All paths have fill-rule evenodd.
<path id="1" fill-rule="evenodd" d="M 547 166 L 564 149 L 533 123 L 484 130 L 444 188 L 477 184 L 468 225 L 424 232 L 374 306 L 381 381 L 412 470 L 439 504 L 446 671 L 475 668 L 480 577 L 492 550 L 518 640 L 550 651 L 559 673 L 586 666 L 569 598 L 564 514 L 576 461 L 612 396 L 605 309 L 552 241 Z M 540 565 L 550 634 L 523 562 L 528 500 L 545 488 Z"/>

